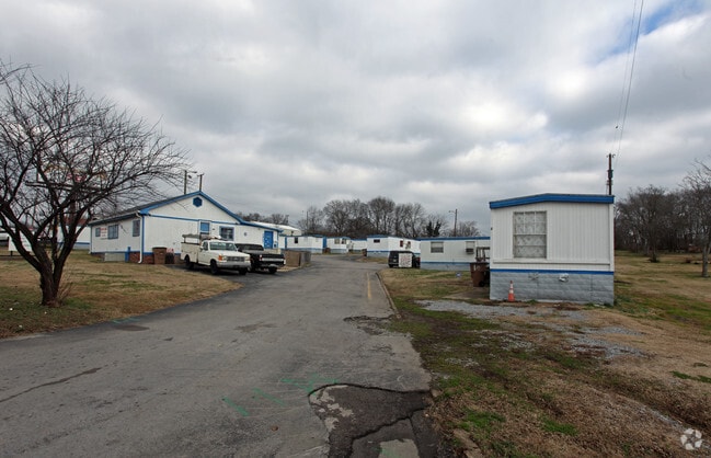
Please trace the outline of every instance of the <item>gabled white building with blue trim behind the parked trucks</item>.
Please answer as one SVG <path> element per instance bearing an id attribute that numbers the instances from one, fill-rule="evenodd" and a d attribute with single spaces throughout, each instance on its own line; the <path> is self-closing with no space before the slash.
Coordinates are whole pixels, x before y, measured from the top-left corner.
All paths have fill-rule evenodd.
<path id="1" fill-rule="evenodd" d="M 157 248 L 180 255 L 183 234 L 278 247 L 275 229 L 240 219 L 203 192 L 138 206 L 90 228 L 91 253 L 112 261 L 152 262 Z"/>

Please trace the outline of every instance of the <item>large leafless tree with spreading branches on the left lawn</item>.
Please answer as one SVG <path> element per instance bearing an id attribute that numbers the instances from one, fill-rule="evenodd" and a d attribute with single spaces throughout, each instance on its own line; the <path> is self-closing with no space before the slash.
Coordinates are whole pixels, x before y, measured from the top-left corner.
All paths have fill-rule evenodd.
<path id="1" fill-rule="evenodd" d="M 0 62 L 0 227 L 39 273 L 44 306 L 61 305 L 66 261 L 94 215 L 180 186 L 186 168 L 156 126 Z"/>

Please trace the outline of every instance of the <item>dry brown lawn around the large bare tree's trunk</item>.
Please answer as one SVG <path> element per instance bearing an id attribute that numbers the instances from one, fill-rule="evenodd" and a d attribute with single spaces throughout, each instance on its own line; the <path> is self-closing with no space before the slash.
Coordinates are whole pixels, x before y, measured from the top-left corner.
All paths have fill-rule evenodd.
<path id="1" fill-rule="evenodd" d="M 239 287 L 182 266 L 104 263 L 81 252 L 67 264 L 62 307 L 42 307 L 38 283 L 26 262 L 0 253 L 0 337 L 123 319 Z"/>

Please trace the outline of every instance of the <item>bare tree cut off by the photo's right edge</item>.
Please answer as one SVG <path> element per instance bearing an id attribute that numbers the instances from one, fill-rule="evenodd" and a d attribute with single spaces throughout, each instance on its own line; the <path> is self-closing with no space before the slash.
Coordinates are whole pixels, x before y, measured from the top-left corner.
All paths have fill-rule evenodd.
<path id="1" fill-rule="evenodd" d="M 711 252 L 711 168 L 697 161 L 697 168 L 684 180 L 687 226 L 693 243 L 701 249 L 701 276 L 709 277 Z"/>

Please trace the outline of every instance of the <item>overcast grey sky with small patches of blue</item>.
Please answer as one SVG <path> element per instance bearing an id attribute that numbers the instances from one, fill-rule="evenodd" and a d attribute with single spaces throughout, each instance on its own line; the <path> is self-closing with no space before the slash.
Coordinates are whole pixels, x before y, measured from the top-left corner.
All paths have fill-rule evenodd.
<path id="1" fill-rule="evenodd" d="M 0 0 L 0 11 L 5 64 L 160 121 L 210 196 L 293 224 L 311 205 L 386 196 L 457 209 L 488 232 L 491 201 L 606 193 L 608 153 L 618 199 L 675 188 L 711 154 L 711 0 Z"/>

